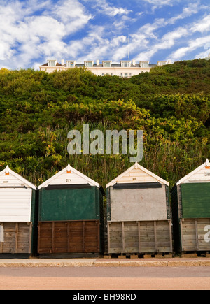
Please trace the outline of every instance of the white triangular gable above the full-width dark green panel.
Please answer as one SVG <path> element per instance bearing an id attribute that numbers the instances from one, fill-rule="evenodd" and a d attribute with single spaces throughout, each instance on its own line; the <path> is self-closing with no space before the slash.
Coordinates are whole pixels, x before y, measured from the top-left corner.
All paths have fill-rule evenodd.
<path id="1" fill-rule="evenodd" d="M 52 176 L 52 178 L 49 178 L 43 182 L 43 184 L 41 184 L 38 189 L 48 187 L 49 185 L 53 184 L 90 184 L 91 186 L 100 187 L 97 182 L 94 182 L 94 180 L 91 180 L 91 178 L 88 178 L 80 171 L 72 168 L 69 164 L 62 171 L 59 171 L 59 173 Z"/>

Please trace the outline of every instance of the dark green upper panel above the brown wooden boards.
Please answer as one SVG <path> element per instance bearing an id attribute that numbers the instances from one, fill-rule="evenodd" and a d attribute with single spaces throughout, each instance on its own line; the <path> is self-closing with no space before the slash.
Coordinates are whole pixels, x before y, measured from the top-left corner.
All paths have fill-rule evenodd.
<path id="1" fill-rule="evenodd" d="M 41 189 L 39 191 L 39 221 L 100 219 L 100 190 Z"/>

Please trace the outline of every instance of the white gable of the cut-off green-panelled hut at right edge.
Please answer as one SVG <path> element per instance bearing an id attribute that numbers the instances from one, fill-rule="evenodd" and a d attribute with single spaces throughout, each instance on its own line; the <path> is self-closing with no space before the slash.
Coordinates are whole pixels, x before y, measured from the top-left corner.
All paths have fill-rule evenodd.
<path id="1" fill-rule="evenodd" d="M 181 178 L 179 182 L 176 183 L 177 186 L 179 184 L 187 183 L 187 182 L 210 182 L 210 163 L 209 159 L 206 160 L 204 164 L 190 172 L 185 177 Z"/>

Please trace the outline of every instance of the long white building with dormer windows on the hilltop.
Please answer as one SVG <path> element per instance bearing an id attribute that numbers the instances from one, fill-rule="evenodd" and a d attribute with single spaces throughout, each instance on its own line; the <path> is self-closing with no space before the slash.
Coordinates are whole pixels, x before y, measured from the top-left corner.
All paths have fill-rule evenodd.
<path id="1" fill-rule="evenodd" d="M 150 72 L 151 68 L 155 66 L 163 66 L 165 64 L 172 64 L 171 60 L 158 61 L 158 64 L 150 64 L 149 61 L 140 61 L 139 64 L 135 60 L 122 60 L 118 64 L 113 64 L 111 60 L 104 60 L 100 62 L 84 61 L 83 64 L 77 64 L 75 60 L 62 60 L 61 64 L 57 60 L 48 60 L 46 64 L 40 66 L 40 71 L 52 73 L 54 71 L 66 71 L 68 68 L 87 68 L 97 76 L 111 75 L 130 78 L 140 73 Z"/>

